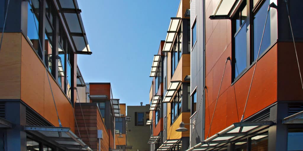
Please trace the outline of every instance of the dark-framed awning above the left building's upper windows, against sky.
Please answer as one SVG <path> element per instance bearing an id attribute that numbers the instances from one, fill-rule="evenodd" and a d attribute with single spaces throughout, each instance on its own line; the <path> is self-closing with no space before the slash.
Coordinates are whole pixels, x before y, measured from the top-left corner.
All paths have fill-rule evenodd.
<path id="1" fill-rule="evenodd" d="M 57 3 L 58 2 L 58 3 Z M 89 49 L 86 33 L 84 30 L 81 10 L 76 0 L 58 0 L 56 4 L 61 19 L 65 22 L 64 29 L 70 35 L 73 48 L 77 54 L 92 54 Z"/>

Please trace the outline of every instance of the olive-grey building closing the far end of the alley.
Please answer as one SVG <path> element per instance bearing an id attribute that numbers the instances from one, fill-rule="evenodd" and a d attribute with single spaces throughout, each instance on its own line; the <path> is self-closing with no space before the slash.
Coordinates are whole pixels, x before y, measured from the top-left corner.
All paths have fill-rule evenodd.
<path id="1" fill-rule="evenodd" d="M 147 144 L 150 137 L 149 126 L 149 104 L 145 106 L 127 106 L 126 133 L 128 151 L 148 151 Z"/>

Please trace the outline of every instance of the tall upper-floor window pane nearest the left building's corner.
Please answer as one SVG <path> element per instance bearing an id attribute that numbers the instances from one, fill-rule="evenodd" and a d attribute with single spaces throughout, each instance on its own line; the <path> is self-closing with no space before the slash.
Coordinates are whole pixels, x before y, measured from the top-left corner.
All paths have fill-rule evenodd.
<path id="1" fill-rule="evenodd" d="M 33 46 L 33 48 L 34 48 L 34 50 L 35 50 L 36 53 L 38 53 L 39 47 L 40 47 L 40 42 L 39 42 L 39 37 L 38 37 L 38 29 L 39 29 L 39 5 L 40 5 L 40 2 L 38 0 L 30 0 L 30 1 L 28 1 L 28 10 L 27 10 L 27 38 L 31 42 L 31 44 L 32 44 L 32 46 Z M 5 14 L 5 13 L 3 12 L 3 14 Z"/>

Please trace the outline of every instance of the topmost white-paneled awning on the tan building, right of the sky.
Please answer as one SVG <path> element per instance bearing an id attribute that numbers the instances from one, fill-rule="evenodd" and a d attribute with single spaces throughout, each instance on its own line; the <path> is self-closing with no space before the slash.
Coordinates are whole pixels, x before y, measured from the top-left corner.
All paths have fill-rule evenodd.
<path id="1" fill-rule="evenodd" d="M 168 31 L 167 31 L 164 47 L 162 49 L 163 52 L 170 52 L 171 45 L 172 45 L 172 42 L 174 41 L 174 38 L 177 33 L 180 22 L 181 22 L 180 17 L 171 18 L 171 22 L 169 23 L 169 26 L 168 26 Z"/>

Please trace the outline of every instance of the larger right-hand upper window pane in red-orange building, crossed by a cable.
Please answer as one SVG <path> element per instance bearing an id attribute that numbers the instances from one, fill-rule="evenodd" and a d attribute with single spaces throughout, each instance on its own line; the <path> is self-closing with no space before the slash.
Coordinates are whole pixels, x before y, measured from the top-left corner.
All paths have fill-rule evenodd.
<path id="1" fill-rule="evenodd" d="M 254 15 L 254 24 L 253 24 L 253 39 L 254 39 L 254 52 L 253 60 L 255 61 L 258 56 L 258 51 L 260 48 L 262 33 L 265 25 L 267 9 L 269 5 L 269 0 L 266 0 L 258 12 Z M 264 36 L 261 44 L 260 55 L 270 46 L 270 13 L 268 14 Z"/>

